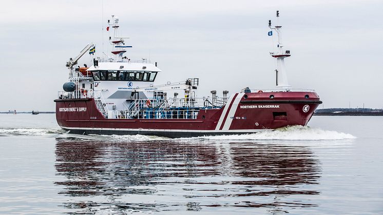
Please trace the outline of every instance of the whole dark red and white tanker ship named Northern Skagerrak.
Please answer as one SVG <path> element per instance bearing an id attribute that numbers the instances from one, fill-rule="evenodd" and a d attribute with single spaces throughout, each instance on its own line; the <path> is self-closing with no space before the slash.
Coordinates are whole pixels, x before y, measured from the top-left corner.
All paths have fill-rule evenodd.
<path id="1" fill-rule="evenodd" d="M 277 17 L 279 12 L 277 11 Z M 277 50 L 270 52 L 277 68 L 276 86 L 271 89 L 239 88 L 222 96 L 212 90 L 197 96 L 199 78 L 159 84 L 163 71 L 142 58 L 124 56 L 129 37 L 119 35 L 119 18 L 112 16 L 107 30 L 111 56 L 92 57 L 90 67 L 78 65 L 88 44 L 66 66 L 69 79 L 59 91 L 56 120 L 61 128 L 77 134 L 144 134 L 169 138 L 203 135 L 248 134 L 285 126 L 307 125 L 322 102 L 314 90 L 293 89 L 288 84 L 284 58 L 291 56 L 281 42 L 281 26 L 269 35 L 278 36 Z"/>

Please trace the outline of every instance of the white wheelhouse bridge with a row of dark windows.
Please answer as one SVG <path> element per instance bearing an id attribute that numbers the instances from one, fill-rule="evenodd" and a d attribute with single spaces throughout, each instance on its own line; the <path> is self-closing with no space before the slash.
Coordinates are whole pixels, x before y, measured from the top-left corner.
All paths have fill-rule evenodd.
<path id="1" fill-rule="evenodd" d="M 91 66 L 94 81 L 139 81 L 154 82 L 159 68 L 150 63 L 100 62 Z"/>

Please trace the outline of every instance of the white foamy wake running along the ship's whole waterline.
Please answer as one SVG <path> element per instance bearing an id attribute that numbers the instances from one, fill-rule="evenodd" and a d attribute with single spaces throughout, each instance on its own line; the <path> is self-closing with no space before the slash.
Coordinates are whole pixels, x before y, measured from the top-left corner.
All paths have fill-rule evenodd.
<path id="1" fill-rule="evenodd" d="M 311 128 L 309 126 L 288 126 L 275 130 L 266 130 L 253 134 L 234 134 L 219 136 L 200 136 L 198 138 L 178 138 L 169 139 L 159 136 L 147 135 L 78 135 L 68 134 L 61 128 L 0 128 L 0 136 L 56 136 L 59 139 L 81 139 L 100 142 L 151 142 L 151 141 L 191 141 L 191 140 L 210 140 L 210 141 L 262 141 L 262 140 L 284 140 L 284 141 L 321 141 L 321 140 L 350 140 L 356 137 L 349 133 L 338 131 Z"/>

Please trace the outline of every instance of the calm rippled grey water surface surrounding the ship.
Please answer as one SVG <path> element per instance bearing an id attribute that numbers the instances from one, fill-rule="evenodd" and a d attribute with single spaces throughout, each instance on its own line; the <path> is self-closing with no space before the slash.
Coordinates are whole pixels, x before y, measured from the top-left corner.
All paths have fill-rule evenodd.
<path id="1" fill-rule="evenodd" d="M 73 135 L 0 115 L 0 213 L 383 213 L 383 118 L 249 135 Z"/>

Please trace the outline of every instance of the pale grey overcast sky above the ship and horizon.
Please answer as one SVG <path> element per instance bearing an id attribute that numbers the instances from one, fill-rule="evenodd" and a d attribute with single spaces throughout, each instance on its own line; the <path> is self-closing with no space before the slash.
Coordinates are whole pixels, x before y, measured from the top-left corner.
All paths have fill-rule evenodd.
<path id="1" fill-rule="evenodd" d="M 0 8 L 0 111 L 54 110 L 65 62 L 89 42 L 102 51 L 102 1 L 7 1 Z M 103 1 L 104 26 L 120 17 L 131 59 L 150 57 L 161 83 L 200 77 L 210 90 L 275 85 L 267 21 L 280 11 L 293 88 L 315 89 L 324 108 L 383 108 L 382 1 Z M 104 30 L 106 38 L 107 32 Z M 106 41 L 106 40 L 105 40 Z M 275 38 L 274 38 L 275 42 Z M 106 42 L 104 46 L 106 52 Z M 82 63 L 90 64 L 89 56 Z M 321 107 L 320 107 L 321 108 Z"/>

